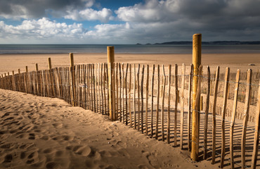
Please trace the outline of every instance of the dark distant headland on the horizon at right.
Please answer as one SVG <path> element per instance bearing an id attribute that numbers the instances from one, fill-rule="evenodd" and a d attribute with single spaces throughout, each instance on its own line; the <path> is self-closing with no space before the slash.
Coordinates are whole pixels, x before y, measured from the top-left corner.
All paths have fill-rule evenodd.
<path id="1" fill-rule="evenodd" d="M 155 44 L 193 44 L 192 41 L 174 41 L 174 42 L 162 42 Z M 213 41 L 213 42 L 202 42 L 202 44 L 260 44 L 260 41 Z M 137 43 L 137 45 L 142 45 Z M 153 44 L 145 44 L 153 45 Z"/>

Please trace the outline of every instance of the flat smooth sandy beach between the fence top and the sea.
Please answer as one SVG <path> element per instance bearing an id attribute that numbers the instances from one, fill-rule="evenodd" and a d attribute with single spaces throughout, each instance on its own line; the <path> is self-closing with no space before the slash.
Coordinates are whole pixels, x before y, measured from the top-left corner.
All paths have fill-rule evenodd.
<path id="1" fill-rule="evenodd" d="M 38 63 L 39 70 L 48 69 L 48 58 L 51 58 L 52 67 L 62 67 L 70 65 L 69 54 L 1 54 L 0 55 L 0 75 L 7 72 L 18 73 L 28 70 L 35 70 L 35 63 Z M 260 54 L 202 54 L 202 65 L 209 65 L 212 70 L 220 65 L 221 73 L 226 67 L 231 73 L 235 73 L 238 68 L 241 72 L 246 72 L 251 68 L 254 72 L 260 69 Z M 115 54 L 115 61 L 120 63 L 141 63 L 141 64 L 164 64 L 186 66 L 192 63 L 192 54 Z M 107 62 L 106 54 L 74 54 L 74 64 L 82 63 L 104 63 Z M 249 65 L 254 63 L 255 65 Z"/>

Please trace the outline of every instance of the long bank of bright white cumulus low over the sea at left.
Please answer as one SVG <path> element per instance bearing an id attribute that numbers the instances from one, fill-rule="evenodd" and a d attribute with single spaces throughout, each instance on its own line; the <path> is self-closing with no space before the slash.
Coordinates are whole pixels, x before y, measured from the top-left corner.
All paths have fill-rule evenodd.
<path id="1" fill-rule="evenodd" d="M 66 23 L 56 23 L 48 18 L 24 20 L 21 25 L 17 26 L 6 25 L 1 21 L 0 42 L 4 42 L 4 39 L 24 39 L 25 42 L 30 39 L 39 41 L 48 39 L 51 42 L 51 39 L 81 38 L 85 31 L 82 24 L 67 25 Z"/>

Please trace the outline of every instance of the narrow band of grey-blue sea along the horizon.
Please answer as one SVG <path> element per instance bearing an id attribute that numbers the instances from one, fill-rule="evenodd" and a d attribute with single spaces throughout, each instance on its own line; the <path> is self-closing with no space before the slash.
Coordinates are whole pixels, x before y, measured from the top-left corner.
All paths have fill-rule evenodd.
<path id="1" fill-rule="evenodd" d="M 115 53 L 192 54 L 188 44 L 0 44 L 0 54 L 106 53 L 107 46 L 115 46 Z M 260 45 L 202 44 L 202 54 L 260 54 Z"/>

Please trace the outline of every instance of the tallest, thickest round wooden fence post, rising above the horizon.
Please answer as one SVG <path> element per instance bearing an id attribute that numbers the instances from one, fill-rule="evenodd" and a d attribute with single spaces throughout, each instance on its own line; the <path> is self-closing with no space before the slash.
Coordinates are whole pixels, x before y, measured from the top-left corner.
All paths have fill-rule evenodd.
<path id="1" fill-rule="evenodd" d="M 192 127 L 192 144 L 191 144 L 191 154 L 190 158 L 193 161 L 197 161 L 199 155 L 199 132 L 200 132 L 200 124 L 199 115 L 200 113 L 195 111 L 195 101 L 197 95 L 197 80 L 198 73 L 201 64 L 201 44 L 202 44 L 202 35 L 195 34 L 193 35 L 193 127 Z"/>

